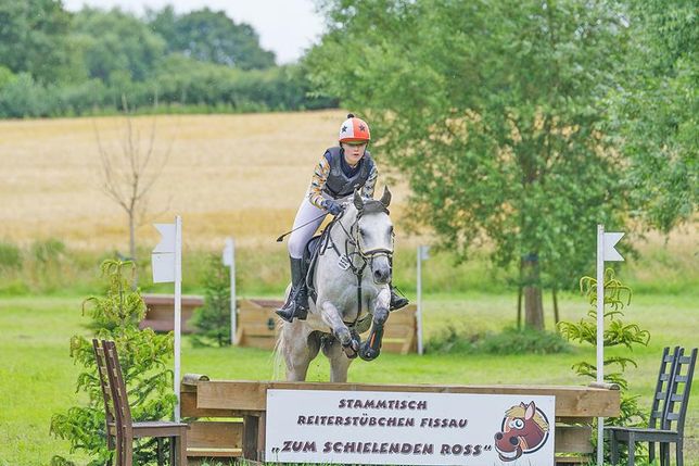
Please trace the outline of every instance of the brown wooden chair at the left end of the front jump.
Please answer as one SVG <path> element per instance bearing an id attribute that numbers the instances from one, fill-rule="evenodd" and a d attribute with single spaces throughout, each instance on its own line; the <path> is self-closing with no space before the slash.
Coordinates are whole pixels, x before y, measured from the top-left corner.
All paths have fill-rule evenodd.
<path id="1" fill-rule="evenodd" d="M 157 464 L 163 465 L 163 439 L 170 439 L 169 464 L 187 465 L 187 424 L 167 420 L 137 421 L 131 419 L 126 385 L 116 345 L 113 341 L 92 340 L 104 399 L 107 446 L 116 450 L 116 466 L 134 465 L 134 439 L 157 439 Z"/>

